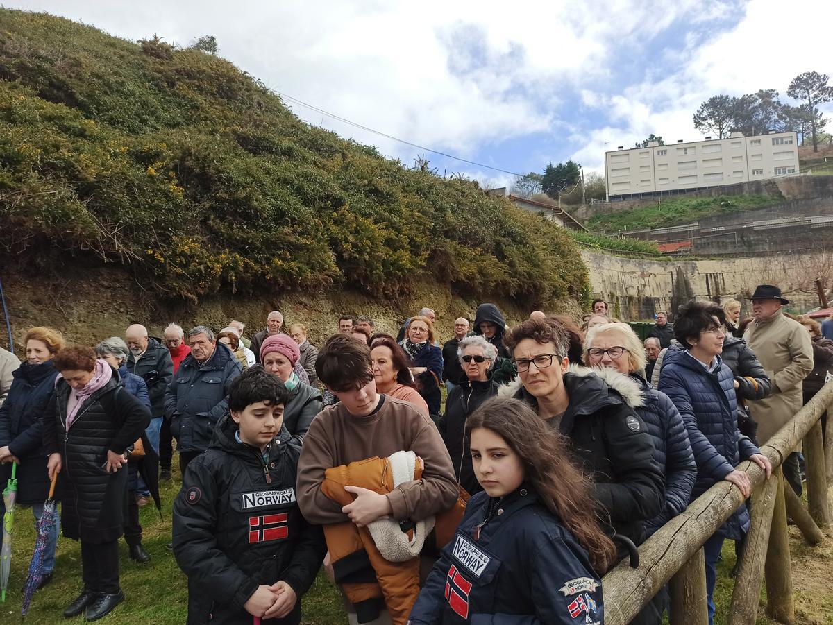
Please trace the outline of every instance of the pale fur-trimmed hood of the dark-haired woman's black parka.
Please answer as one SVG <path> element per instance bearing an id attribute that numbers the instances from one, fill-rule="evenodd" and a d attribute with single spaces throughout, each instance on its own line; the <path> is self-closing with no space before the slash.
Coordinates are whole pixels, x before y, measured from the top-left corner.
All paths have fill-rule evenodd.
<path id="1" fill-rule="evenodd" d="M 625 404 L 630 408 L 645 405 L 642 387 L 630 375 L 613 369 L 590 369 L 571 363 L 564 374 L 564 386 L 570 396 L 568 411 L 589 414 L 608 405 Z M 516 378 L 497 389 L 498 397 L 510 397 L 536 404 Z"/>

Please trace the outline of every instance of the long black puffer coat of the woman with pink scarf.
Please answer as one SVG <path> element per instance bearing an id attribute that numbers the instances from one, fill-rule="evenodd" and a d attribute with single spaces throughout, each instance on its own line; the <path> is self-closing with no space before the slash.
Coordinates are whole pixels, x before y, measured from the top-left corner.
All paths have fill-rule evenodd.
<path id="1" fill-rule="evenodd" d="M 47 454 L 61 453 L 61 528 L 67 538 L 107 543 L 122 535 L 127 509 L 127 466 L 107 473 L 107 451 L 123 454 L 142 435 L 151 415 L 113 370 L 112 379 L 84 401 L 67 431 L 71 390 L 58 380 L 43 419 Z"/>

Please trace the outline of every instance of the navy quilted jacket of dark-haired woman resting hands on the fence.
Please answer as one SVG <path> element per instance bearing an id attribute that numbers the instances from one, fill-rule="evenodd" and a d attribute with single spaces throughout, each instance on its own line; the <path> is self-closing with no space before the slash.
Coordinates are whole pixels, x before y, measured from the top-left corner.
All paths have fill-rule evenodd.
<path id="1" fill-rule="evenodd" d="M 697 463 L 692 501 L 725 479 L 741 460 L 760 453 L 737 429 L 735 381 L 722 361 L 709 373 L 680 345 L 671 345 L 662 365 L 660 390 L 674 402 L 688 429 Z M 741 505 L 717 533 L 737 540 L 748 528 L 749 513 Z"/>

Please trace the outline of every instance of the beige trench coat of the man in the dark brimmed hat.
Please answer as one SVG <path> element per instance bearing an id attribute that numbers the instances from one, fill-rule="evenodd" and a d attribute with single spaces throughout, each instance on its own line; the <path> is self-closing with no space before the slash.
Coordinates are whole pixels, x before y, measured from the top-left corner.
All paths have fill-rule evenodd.
<path id="1" fill-rule="evenodd" d="M 806 328 L 781 311 L 753 321 L 743 339 L 772 380 L 769 397 L 746 402 L 758 424 L 758 443 L 765 444 L 801 409 L 801 380 L 813 370 L 813 346 Z"/>

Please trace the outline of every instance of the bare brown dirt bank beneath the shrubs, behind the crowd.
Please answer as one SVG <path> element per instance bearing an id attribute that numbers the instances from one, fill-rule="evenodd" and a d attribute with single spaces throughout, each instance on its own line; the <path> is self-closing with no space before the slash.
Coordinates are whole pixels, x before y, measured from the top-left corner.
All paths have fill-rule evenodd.
<path id="1" fill-rule="evenodd" d="M 418 285 L 407 300 L 373 300 L 352 291 L 330 290 L 322 293 L 287 292 L 277 297 L 250 297 L 221 294 L 204 298 L 198 305 L 187 302 L 169 303 L 117 267 L 72 270 L 65 268 L 42 275 L 3 270 L 2 285 L 12 323 L 15 351 L 22 356 L 22 335 L 33 325 L 51 325 L 67 337 L 84 344 L 93 344 L 107 336 L 122 336 L 127 325 L 147 325 L 151 335 L 161 336 L 164 327 L 175 322 L 186 330 L 204 324 L 221 330 L 232 319 L 247 325 L 251 336 L 266 325 L 270 310 L 281 310 L 285 323 L 301 322 L 309 328 L 315 345 L 337 330 L 342 314 L 365 315 L 376 322 L 377 331 L 393 335 L 408 316 L 422 306 L 436 310 L 440 340 L 453 335 L 458 316 L 474 319 L 480 301 L 452 295 L 432 284 Z M 495 297 L 491 300 L 506 315 L 506 322 L 515 325 L 526 319 L 530 310 Z M 558 312 L 577 312 L 576 305 L 566 305 Z M 551 312 L 556 312 L 555 310 Z M 0 324 L 0 345 L 7 346 L 5 327 Z"/>

